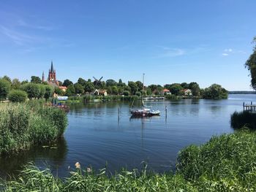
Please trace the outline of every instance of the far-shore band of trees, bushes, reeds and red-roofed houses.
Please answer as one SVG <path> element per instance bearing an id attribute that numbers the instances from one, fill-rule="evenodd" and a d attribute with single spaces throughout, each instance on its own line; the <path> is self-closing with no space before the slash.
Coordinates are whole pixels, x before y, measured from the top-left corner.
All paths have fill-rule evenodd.
<path id="1" fill-rule="evenodd" d="M 61 85 L 61 86 L 59 86 Z M 31 76 L 31 81 L 11 80 L 6 75 L 0 77 L 0 101 L 23 102 L 27 99 L 45 99 L 48 101 L 56 93 L 69 96 L 69 103 L 88 102 L 94 99 L 102 101 L 133 101 L 146 97 L 165 97 L 165 99 L 227 99 L 228 91 L 221 85 L 213 84 L 200 88 L 197 82 L 182 82 L 162 85 L 144 86 L 140 81 L 122 80 L 94 81 L 79 78 L 78 82 L 70 80 L 59 82 L 59 85 L 42 82 L 39 77 Z M 65 88 L 62 89 L 61 88 Z M 64 91 L 65 90 L 65 91 Z M 144 91 L 143 91 L 144 90 Z M 82 97 L 83 99 L 78 98 Z"/>

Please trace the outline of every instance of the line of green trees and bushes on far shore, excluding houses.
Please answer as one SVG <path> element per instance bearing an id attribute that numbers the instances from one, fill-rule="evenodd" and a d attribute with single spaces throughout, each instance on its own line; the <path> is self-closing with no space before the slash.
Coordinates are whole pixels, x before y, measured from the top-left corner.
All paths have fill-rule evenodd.
<path id="1" fill-rule="evenodd" d="M 140 81 L 129 81 L 128 84 L 122 80 L 94 81 L 79 78 L 78 82 L 73 83 L 70 80 L 60 82 L 60 85 L 66 86 L 67 91 L 63 92 L 58 86 L 48 85 L 42 82 L 39 77 L 32 76 L 31 82 L 20 82 L 18 79 L 10 80 L 10 77 L 0 78 L 0 99 L 10 98 L 11 101 L 24 101 L 29 99 L 49 99 L 53 93 L 65 96 L 89 95 L 97 90 L 105 90 L 113 96 L 138 96 L 143 92 L 143 83 Z M 144 86 L 144 96 L 167 96 L 168 99 L 173 97 L 164 92 L 168 89 L 174 96 L 194 96 L 206 99 L 226 99 L 227 91 L 221 85 L 213 84 L 209 88 L 201 89 L 197 82 L 183 82 L 162 85 Z M 16 90 L 16 91 L 14 91 Z M 19 91 L 17 91 L 19 90 Z M 8 95 L 10 93 L 10 95 Z M 168 96 L 169 95 L 169 96 Z"/>

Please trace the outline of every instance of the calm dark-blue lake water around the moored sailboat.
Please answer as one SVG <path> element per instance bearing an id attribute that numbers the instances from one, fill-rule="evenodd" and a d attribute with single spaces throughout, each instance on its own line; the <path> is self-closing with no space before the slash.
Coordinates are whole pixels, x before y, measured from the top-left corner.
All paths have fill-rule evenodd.
<path id="1" fill-rule="evenodd" d="M 77 161 L 96 170 L 107 165 L 110 172 L 140 169 L 143 161 L 156 172 L 173 170 L 179 150 L 203 144 L 212 135 L 232 133 L 230 115 L 241 111 L 244 101 L 255 100 L 256 95 L 230 95 L 225 100 L 148 101 L 146 105 L 162 112 L 152 118 L 130 118 L 128 102 L 73 104 L 64 138 L 51 148 L 37 146 L 1 157 L 0 176 L 15 173 L 29 161 L 50 166 L 60 177 Z"/>

